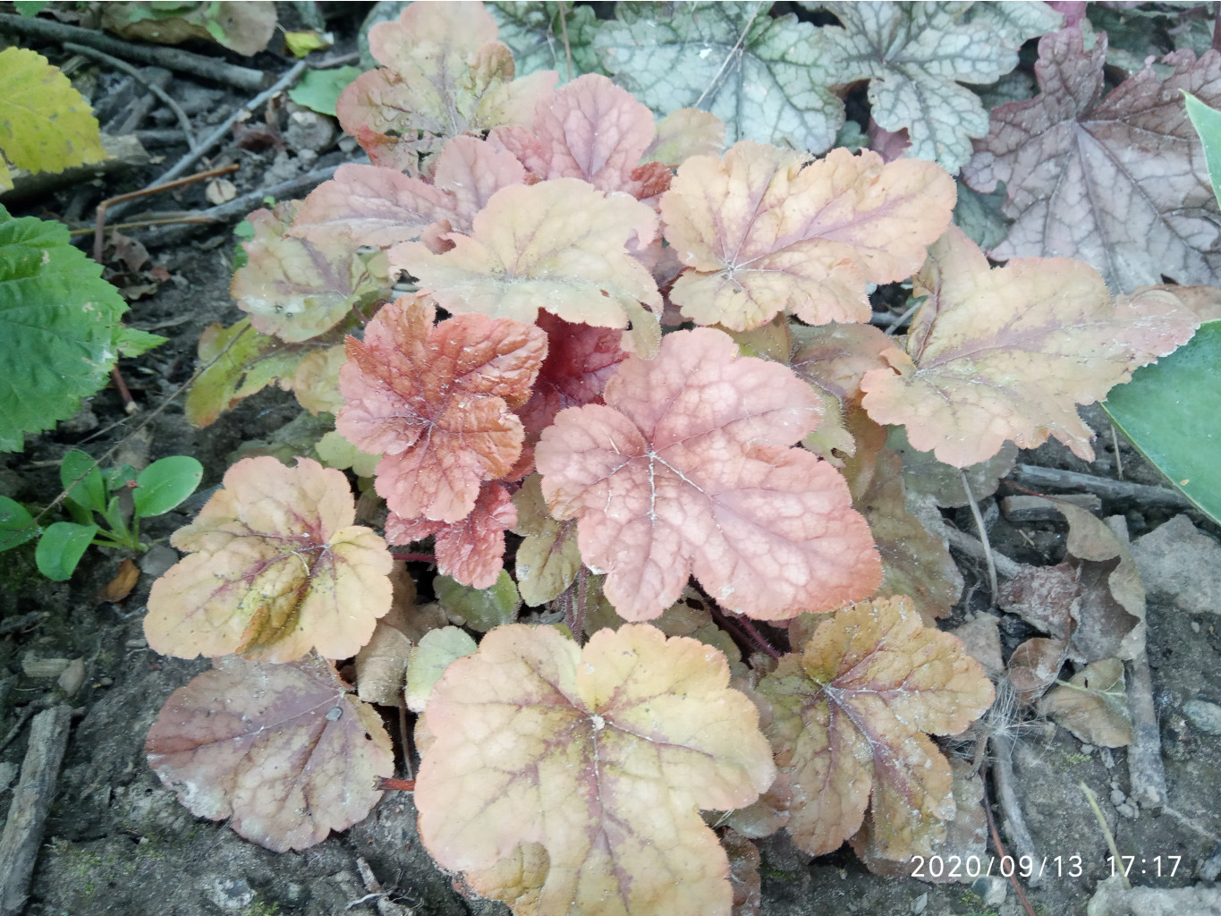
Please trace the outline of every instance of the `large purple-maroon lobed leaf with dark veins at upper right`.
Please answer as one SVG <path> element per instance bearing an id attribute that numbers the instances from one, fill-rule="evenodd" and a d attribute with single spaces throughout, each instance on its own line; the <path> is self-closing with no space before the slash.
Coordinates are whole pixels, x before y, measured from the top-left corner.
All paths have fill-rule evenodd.
<path id="1" fill-rule="evenodd" d="M 1215 283 L 1216 199 L 1182 92 L 1221 104 L 1221 54 L 1175 51 L 1168 76 L 1147 64 L 1104 98 L 1106 51 L 1105 34 L 1085 51 L 1079 27 L 1044 35 L 1039 95 L 993 110 L 962 171 L 984 193 L 1005 182 L 1013 224 L 990 254 L 1079 258 L 1114 293 Z"/>

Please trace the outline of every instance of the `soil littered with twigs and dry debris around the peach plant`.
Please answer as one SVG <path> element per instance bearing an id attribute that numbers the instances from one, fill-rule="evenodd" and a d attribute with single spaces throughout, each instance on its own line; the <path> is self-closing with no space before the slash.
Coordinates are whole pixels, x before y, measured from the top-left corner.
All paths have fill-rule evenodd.
<path id="1" fill-rule="evenodd" d="M 315 5 L 276 4 L 281 24 L 291 29 L 299 6 Z M 313 57 L 308 66 L 355 64 L 368 5 L 317 6 L 335 45 L 313 55 L 322 59 L 320 66 Z M 12 13 L 11 7 L 0 4 L 0 12 Z M 48 787 L 54 794 L 28 901 L 13 912 L 507 914 L 499 903 L 464 896 L 432 863 L 419 840 L 409 793 L 388 791 L 350 829 L 304 851 L 277 854 L 243 840 L 223 822 L 193 817 L 145 757 L 145 735 L 166 697 L 210 667 L 206 658 L 160 656 L 145 641 L 150 586 L 178 559 L 167 539 L 194 518 L 234 460 L 292 454 L 293 436 L 309 421 L 295 398 L 275 387 L 205 429 L 193 427 L 183 414 L 181 390 L 195 371 L 200 335 L 214 322 L 228 326 L 243 316 L 230 296 L 241 253 L 234 225 L 265 198 L 304 197 L 339 164 L 360 161 L 359 148 L 333 117 L 282 93 L 250 105 L 298 66 L 287 54 L 228 53 L 233 65 L 265 75 L 252 89 L 242 88 L 241 75 L 193 73 L 168 57 L 168 68 L 137 61 L 137 79 L 54 38 L 23 38 L 21 44 L 73 77 L 109 133 L 138 140 L 99 177 L 92 171 L 78 180 L 48 176 L 0 198 L 15 215 L 67 224 L 84 245 L 93 243 L 88 230 L 101 202 L 162 177 L 188 153 L 188 143 L 221 126 L 227 129 L 219 145 L 182 172 L 209 171 L 210 177 L 107 208 L 99 250 L 106 277 L 131 304 L 126 321 L 168 338 L 120 363 L 136 409 L 111 386 L 55 430 L 29 436 L 24 452 L 0 454 L 0 493 L 34 503 L 59 492 L 59 465 L 72 448 L 94 456 L 117 448 L 111 462 L 137 469 L 173 454 L 194 456 L 204 465 L 195 496 L 148 522 L 144 534 L 154 546 L 136 558 L 138 579 L 134 587 L 128 584 L 128 594 L 120 594 L 115 583 L 134 572 L 116 552 L 90 550 L 65 583 L 38 573 L 33 543 L 0 561 L 0 810 L 13 801 L 35 716 L 71 710 L 59 776 Z M 214 59 L 220 54 L 198 42 L 186 49 Z M 1032 72 L 1032 60 L 1023 55 L 1022 72 Z M 178 111 L 149 85 L 172 98 Z M 901 310 L 889 309 L 891 292 L 883 287 L 874 296 L 884 324 Z M 999 834 L 1004 854 L 989 839 L 978 862 L 934 857 L 890 863 L 886 877 L 869 871 L 846 844 L 811 860 L 778 833 L 758 841 L 759 912 L 1018 916 L 1028 912 L 1022 894 L 1034 912 L 1048 916 L 1221 914 L 1215 883 L 1221 874 L 1221 530 L 1165 486 L 1101 409 L 1085 408 L 1082 415 L 1098 434 L 1093 462 L 1059 442 L 1022 451 L 996 492 L 979 502 L 979 512 L 1002 586 L 1018 576 L 1018 564 L 1056 567 L 1068 552 L 1070 522 L 1045 501 L 1032 501 L 1032 493 L 1073 495 L 1078 506 L 1111 522 L 1121 542 L 1129 539 L 1147 597 L 1149 721 L 1156 730 L 1140 740 L 1145 747 L 1160 741 L 1164 788 L 1155 787 L 1150 796 L 1148 787 L 1133 784 L 1133 774 L 1142 772 L 1132 758 L 1137 745 L 1090 743 L 1057 724 L 1063 719 L 1002 695 L 955 747 L 968 763 L 989 752 L 1005 755 L 993 762 L 983 789 L 995 827 L 973 827 L 988 837 Z M 1048 629 L 1027 614 L 993 607 L 971 507 L 943 503 L 932 511 L 960 533 L 950 542 L 965 581 L 961 601 L 939 625 L 958 633 L 982 661 L 994 658 L 989 674 L 1005 679 L 1006 666 L 1016 667 L 1015 650 Z M 1081 569 L 1074 574 L 1095 574 L 1088 562 Z M 1056 657 L 1051 678 L 1062 661 Z M 1037 664 L 1026 673 L 1037 677 Z M 1104 688 L 1095 691 L 1101 692 Z M 1098 714 L 1087 710 L 1089 718 Z M 388 725 L 397 735 L 399 723 Z M 1024 827 L 1015 823 L 1015 812 Z M 951 868 L 961 877 L 950 879 Z M 1117 877 L 1122 872 L 1144 889 L 1143 896 L 1125 892 Z M 6 904 L 0 901 L 0 912 L 7 912 Z"/>

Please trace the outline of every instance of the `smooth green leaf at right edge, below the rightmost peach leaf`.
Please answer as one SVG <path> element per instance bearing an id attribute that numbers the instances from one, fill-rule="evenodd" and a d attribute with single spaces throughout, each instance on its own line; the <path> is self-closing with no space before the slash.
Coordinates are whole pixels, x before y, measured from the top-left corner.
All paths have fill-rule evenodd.
<path id="1" fill-rule="evenodd" d="M 1221 321 L 1111 390 L 1103 408 L 1140 453 L 1221 523 Z"/>

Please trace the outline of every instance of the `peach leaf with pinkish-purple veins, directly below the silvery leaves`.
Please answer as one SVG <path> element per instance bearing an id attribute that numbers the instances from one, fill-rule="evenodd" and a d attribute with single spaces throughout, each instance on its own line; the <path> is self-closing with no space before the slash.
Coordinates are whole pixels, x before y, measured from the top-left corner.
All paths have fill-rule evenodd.
<path id="1" fill-rule="evenodd" d="M 662 197 L 665 241 L 690 270 L 670 298 L 701 325 L 735 331 L 779 311 L 868 321 L 866 285 L 905 280 L 950 222 L 956 192 L 939 166 L 877 153 L 805 153 L 744 140 L 694 156 Z"/>

